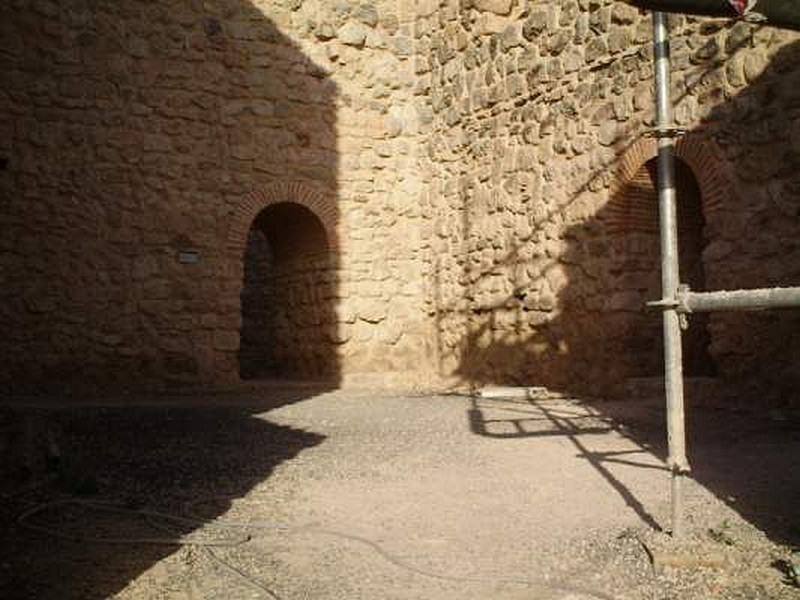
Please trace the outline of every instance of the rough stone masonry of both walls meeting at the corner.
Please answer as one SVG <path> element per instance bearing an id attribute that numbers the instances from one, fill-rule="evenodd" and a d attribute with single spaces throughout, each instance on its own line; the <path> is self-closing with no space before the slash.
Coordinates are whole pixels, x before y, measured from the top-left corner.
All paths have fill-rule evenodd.
<path id="1" fill-rule="evenodd" d="M 685 280 L 796 285 L 800 38 L 671 29 Z M 0 42 L 6 389 L 660 372 L 624 2 L 9 0 Z M 692 319 L 691 369 L 791 402 L 798 331 Z"/>

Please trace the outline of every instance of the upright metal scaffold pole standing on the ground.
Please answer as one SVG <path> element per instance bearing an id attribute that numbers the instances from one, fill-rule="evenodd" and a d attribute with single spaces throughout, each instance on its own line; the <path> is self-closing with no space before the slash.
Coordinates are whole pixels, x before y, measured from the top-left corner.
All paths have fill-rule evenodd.
<path id="1" fill-rule="evenodd" d="M 675 206 L 675 141 L 672 133 L 670 56 L 667 16 L 653 13 L 656 131 L 658 134 L 658 206 L 661 232 L 662 298 L 675 298 L 678 273 L 678 225 Z M 664 387 L 667 396 L 667 437 L 672 471 L 672 535 L 683 534 L 683 478 L 689 471 L 683 409 L 683 365 L 680 317 L 674 307 L 664 310 Z"/>

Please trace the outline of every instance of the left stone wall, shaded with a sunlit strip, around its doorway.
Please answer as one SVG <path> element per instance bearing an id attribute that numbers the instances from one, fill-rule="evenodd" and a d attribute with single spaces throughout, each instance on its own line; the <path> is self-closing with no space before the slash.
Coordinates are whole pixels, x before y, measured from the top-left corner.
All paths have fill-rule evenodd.
<path id="1" fill-rule="evenodd" d="M 309 369 L 416 361 L 409 35 L 393 2 L 4 3 L 0 380 L 238 380 L 247 236 L 281 202 L 328 234 Z"/>

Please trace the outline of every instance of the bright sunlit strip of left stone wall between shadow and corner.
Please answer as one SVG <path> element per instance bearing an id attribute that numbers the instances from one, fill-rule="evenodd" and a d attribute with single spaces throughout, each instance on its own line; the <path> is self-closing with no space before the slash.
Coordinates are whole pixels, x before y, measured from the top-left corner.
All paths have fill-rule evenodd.
<path id="1" fill-rule="evenodd" d="M 264 3 L 265 10 L 271 4 Z M 424 136 L 413 96 L 410 2 L 294 2 L 292 30 L 332 75 L 342 233 L 335 293 L 341 381 L 429 381 L 431 329 L 419 243 Z M 409 381 L 409 373 L 414 373 Z"/>

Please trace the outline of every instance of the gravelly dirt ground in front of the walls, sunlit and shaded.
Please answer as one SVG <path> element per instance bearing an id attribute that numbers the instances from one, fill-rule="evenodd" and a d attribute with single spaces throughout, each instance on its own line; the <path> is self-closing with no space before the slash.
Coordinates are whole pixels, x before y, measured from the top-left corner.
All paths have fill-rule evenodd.
<path id="1" fill-rule="evenodd" d="M 781 413 L 690 411 L 677 542 L 652 401 L 51 400 L 0 409 L 4 599 L 800 598 Z"/>

